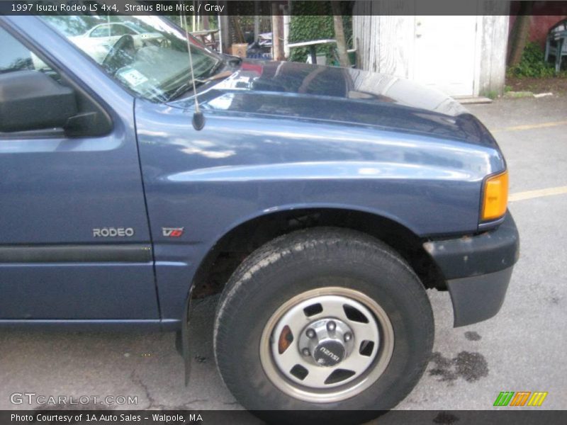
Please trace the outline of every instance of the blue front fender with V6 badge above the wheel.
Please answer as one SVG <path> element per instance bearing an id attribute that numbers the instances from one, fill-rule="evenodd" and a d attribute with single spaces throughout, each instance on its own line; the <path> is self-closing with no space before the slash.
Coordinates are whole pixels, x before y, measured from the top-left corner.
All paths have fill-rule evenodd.
<path id="1" fill-rule="evenodd" d="M 418 237 L 478 227 L 486 146 L 379 128 L 207 113 L 136 101 L 138 147 L 164 318 L 181 317 L 201 261 L 230 229 L 285 209 L 386 217 Z M 183 227 L 170 238 L 163 227 Z"/>

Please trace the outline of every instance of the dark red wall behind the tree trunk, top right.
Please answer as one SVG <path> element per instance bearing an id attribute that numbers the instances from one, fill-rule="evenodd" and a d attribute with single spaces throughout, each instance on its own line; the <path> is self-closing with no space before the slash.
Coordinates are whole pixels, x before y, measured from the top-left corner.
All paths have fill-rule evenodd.
<path id="1" fill-rule="evenodd" d="M 537 42 L 541 48 L 545 48 L 545 41 L 549 28 L 559 21 L 567 18 L 565 1 L 536 1 L 532 8 L 532 16 L 529 20 L 529 41 Z M 518 2 L 513 2 L 510 7 L 510 27 L 508 37 L 516 21 Z"/>

